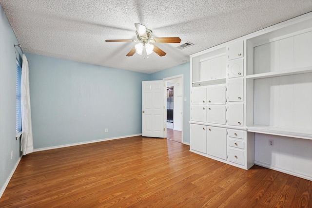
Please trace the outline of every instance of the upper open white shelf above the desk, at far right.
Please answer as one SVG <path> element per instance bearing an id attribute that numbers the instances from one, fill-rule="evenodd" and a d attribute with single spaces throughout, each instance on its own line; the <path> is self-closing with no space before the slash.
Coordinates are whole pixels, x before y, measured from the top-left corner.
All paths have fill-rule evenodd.
<path id="1" fill-rule="evenodd" d="M 311 73 L 312 66 L 285 70 L 285 71 L 276 71 L 276 72 L 267 72 L 255 75 L 248 75 L 246 76 L 247 79 L 261 79 L 261 78 L 269 78 L 275 76 L 287 76 L 287 75 L 297 75 L 297 74 L 304 74 L 304 73 Z"/>

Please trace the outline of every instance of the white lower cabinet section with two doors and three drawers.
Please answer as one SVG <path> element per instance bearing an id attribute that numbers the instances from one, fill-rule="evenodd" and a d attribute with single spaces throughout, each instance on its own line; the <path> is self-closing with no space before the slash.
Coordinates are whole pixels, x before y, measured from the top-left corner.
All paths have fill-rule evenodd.
<path id="1" fill-rule="evenodd" d="M 254 165 L 254 137 L 245 130 L 190 124 L 191 151 L 242 168 Z"/>

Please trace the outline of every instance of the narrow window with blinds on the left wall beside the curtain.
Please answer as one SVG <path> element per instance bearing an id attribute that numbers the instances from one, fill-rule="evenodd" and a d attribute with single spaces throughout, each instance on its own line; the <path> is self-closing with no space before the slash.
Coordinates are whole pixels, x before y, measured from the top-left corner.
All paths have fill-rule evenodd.
<path id="1" fill-rule="evenodd" d="M 16 134 L 21 133 L 21 98 L 20 98 L 21 65 L 16 60 Z"/>

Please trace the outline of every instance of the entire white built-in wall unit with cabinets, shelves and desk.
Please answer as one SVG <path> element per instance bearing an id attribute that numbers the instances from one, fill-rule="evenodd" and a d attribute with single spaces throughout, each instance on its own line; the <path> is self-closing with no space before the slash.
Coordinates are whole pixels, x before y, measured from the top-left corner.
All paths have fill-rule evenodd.
<path id="1" fill-rule="evenodd" d="M 312 180 L 312 13 L 191 55 L 191 92 L 191 151 Z"/>

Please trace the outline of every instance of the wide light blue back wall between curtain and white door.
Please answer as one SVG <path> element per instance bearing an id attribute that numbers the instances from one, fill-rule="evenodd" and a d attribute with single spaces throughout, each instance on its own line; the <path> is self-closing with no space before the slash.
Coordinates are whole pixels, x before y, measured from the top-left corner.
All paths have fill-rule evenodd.
<path id="1" fill-rule="evenodd" d="M 141 82 L 150 75 L 35 54 L 26 57 L 34 149 L 142 132 Z"/>

